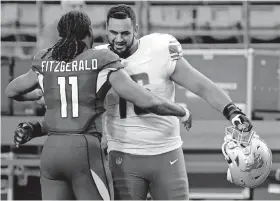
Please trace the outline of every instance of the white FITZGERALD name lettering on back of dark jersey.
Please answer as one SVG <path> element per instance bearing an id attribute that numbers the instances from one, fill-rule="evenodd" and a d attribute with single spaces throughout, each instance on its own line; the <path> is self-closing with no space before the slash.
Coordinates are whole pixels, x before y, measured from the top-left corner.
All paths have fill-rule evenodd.
<path id="1" fill-rule="evenodd" d="M 66 63 L 64 61 L 42 61 L 42 72 L 77 72 L 97 70 L 97 59 L 79 60 Z"/>

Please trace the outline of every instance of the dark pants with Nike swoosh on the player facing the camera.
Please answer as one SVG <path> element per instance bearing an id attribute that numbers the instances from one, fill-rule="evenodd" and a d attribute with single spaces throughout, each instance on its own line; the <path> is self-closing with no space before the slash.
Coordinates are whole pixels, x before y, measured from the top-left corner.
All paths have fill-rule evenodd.
<path id="1" fill-rule="evenodd" d="M 182 149 L 154 156 L 111 151 L 109 166 L 115 200 L 188 200 L 189 186 Z"/>

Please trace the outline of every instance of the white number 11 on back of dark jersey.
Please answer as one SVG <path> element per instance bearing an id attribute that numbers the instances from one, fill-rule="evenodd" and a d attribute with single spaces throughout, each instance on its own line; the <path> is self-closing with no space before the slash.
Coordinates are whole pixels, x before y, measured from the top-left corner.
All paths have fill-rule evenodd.
<path id="1" fill-rule="evenodd" d="M 66 98 L 66 78 L 58 77 L 60 102 L 61 102 L 61 117 L 67 117 L 67 98 Z M 72 91 L 72 117 L 79 116 L 79 99 L 78 99 L 78 78 L 76 76 L 69 77 L 68 83 L 71 85 Z"/>

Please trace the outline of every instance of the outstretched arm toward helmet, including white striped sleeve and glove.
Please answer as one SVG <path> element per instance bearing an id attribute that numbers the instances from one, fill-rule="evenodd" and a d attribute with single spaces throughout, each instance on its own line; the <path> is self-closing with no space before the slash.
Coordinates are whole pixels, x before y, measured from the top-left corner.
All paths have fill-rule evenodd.
<path id="1" fill-rule="evenodd" d="M 182 46 L 177 39 L 168 34 L 164 35 L 164 37 L 164 40 L 167 39 L 163 43 L 165 53 L 168 54 L 171 64 L 165 69 L 168 78 L 203 98 L 213 108 L 223 113 L 239 129 L 251 130 L 251 122 L 232 102 L 230 97 L 218 85 L 193 68 L 183 57 Z"/>

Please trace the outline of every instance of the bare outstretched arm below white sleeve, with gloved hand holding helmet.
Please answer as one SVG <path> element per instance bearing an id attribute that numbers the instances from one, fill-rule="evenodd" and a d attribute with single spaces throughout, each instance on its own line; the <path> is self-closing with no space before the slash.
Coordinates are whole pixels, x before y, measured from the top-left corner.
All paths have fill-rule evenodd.
<path id="1" fill-rule="evenodd" d="M 231 98 L 213 81 L 192 67 L 183 57 L 177 60 L 170 78 L 180 86 L 190 90 L 223 113 L 233 125 L 251 130 L 252 124 Z"/>

